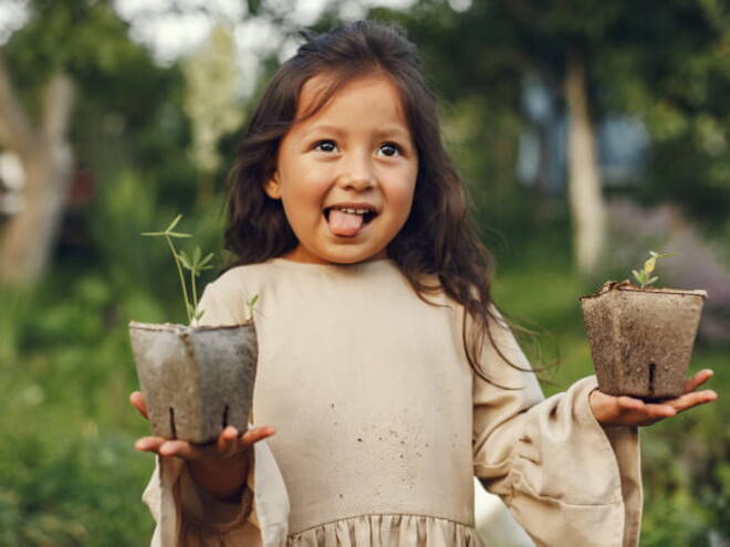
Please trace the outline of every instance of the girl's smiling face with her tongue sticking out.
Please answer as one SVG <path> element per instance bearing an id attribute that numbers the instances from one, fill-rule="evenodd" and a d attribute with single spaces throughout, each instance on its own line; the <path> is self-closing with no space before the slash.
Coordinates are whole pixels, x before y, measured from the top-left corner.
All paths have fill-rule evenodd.
<path id="1" fill-rule="evenodd" d="M 326 86 L 309 80 L 301 119 Z M 385 75 L 346 83 L 314 116 L 295 123 L 264 183 L 281 199 L 299 245 L 284 255 L 310 263 L 353 264 L 386 256 L 413 203 L 418 155 L 398 90 Z"/>

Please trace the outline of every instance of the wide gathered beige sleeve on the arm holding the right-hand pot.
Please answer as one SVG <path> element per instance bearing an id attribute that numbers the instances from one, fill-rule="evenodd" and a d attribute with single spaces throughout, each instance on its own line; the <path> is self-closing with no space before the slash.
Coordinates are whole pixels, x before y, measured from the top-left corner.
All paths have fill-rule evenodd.
<path id="1" fill-rule="evenodd" d="M 476 475 L 540 546 L 638 545 L 637 430 L 597 423 L 593 377 L 544 400 L 509 328 L 491 333 L 482 362 L 493 383 L 473 382 Z"/>

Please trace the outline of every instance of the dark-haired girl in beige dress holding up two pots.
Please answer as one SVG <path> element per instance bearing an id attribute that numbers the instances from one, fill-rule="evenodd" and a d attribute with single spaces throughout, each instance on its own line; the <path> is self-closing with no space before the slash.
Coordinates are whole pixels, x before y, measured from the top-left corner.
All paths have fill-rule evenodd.
<path id="1" fill-rule="evenodd" d="M 229 220 L 238 261 L 202 320 L 240 323 L 259 295 L 252 419 L 277 430 L 140 439 L 159 455 L 154 545 L 479 546 L 474 475 L 539 545 L 637 544 L 636 427 L 715 400 L 695 391 L 711 371 L 664 404 L 594 378 L 543 400 L 400 34 L 346 24 L 283 64 L 244 133 Z"/>

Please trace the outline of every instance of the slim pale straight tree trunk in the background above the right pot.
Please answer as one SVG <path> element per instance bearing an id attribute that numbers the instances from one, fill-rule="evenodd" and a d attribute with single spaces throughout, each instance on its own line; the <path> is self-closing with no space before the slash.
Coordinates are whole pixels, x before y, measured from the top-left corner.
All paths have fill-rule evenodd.
<path id="1" fill-rule="evenodd" d="M 588 114 L 585 60 L 571 50 L 565 76 L 569 109 L 569 196 L 573 221 L 573 254 L 583 274 L 595 272 L 605 243 L 605 208 Z"/>

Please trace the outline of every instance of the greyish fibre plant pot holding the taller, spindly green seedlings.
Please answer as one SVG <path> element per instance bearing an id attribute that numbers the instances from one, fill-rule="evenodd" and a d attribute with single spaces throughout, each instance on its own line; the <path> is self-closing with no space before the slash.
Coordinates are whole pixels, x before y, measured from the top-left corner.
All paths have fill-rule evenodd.
<path id="1" fill-rule="evenodd" d="M 129 323 L 153 434 L 196 444 L 248 427 L 258 346 L 253 323 L 188 327 Z"/>

